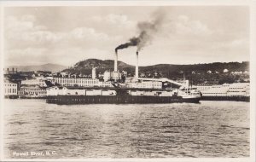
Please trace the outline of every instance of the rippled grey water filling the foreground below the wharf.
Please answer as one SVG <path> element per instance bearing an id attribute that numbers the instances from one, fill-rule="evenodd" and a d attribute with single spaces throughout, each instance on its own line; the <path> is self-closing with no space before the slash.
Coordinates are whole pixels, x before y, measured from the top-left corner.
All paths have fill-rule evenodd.
<path id="1" fill-rule="evenodd" d="M 6 158 L 249 156 L 248 102 L 58 106 L 5 100 L 4 110 Z"/>

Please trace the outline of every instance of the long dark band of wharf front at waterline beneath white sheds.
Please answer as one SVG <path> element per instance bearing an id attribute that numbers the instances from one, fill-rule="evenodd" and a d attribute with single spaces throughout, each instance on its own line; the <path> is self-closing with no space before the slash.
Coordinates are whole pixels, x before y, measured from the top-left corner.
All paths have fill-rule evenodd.
<path id="1" fill-rule="evenodd" d="M 132 104 L 132 103 L 175 103 L 196 102 L 195 100 L 183 100 L 182 96 L 145 96 L 145 95 L 54 95 L 48 96 L 47 103 L 59 105 L 70 104 Z M 198 101 L 197 101 L 198 102 Z"/>

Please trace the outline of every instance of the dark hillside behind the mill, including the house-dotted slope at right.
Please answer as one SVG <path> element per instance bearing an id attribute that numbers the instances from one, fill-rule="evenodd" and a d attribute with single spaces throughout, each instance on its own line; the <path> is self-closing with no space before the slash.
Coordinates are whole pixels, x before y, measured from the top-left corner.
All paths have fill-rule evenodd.
<path id="1" fill-rule="evenodd" d="M 106 70 L 113 71 L 113 61 L 89 59 L 79 61 L 74 67 L 63 70 L 72 74 L 90 75 L 92 67 L 96 67 L 97 73 L 103 73 Z M 135 67 L 125 62 L 118 62 L 119 71 L 125 70 L 128 76 L 134 76 Z M 228 69 L 229 72 L 224 72 Z M 211 73 L 208 73 L 211 71 Z M 249 71 L 249 62 L 214 62 L 209 64 L 194 64 L 194 65 L 172 65 L 172 64 L 158 64 L 154 66 L 139 67 L 140 75 L 143 73 L 144 77 L 148 78 L 172 78 L 182 79 L 183 73 L 189 80 L 193 80 L 195 84 L 207 82 L 208 84 L 223 84 L 233 82 L 243 82 L 249 79 L 249 74 L 233 74 L 231 72 L 245 72 Z"/>

